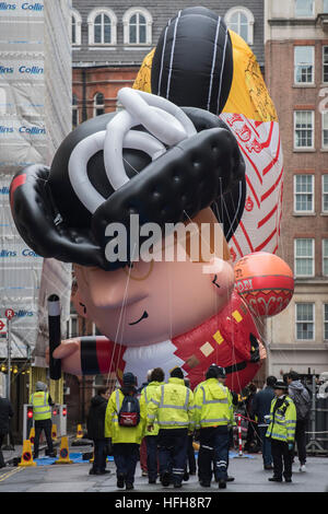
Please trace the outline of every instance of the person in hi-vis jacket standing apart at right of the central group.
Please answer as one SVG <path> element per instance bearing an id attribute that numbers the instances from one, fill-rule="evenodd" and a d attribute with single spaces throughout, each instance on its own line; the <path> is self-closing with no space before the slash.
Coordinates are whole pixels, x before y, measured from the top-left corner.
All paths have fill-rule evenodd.
<path id="1" fill-rule="evenodd" d="M 273 460 L 272 482 L 292 481 L 292 459 L 295 440 L 296 408 L 292 398 L 288 396 L 288 384 L 282 381 L 273 385 L 276 398 L 271 401 L 269 427 L 266 437 L 271 441 Z"/>

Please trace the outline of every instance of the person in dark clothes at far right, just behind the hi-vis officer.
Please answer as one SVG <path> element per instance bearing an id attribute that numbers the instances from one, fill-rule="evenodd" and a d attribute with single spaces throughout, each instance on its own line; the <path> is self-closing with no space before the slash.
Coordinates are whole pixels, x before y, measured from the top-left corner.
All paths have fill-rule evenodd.
<path id="1" fill-rule="evenodd" d="M 297 445 L 297 455 L 300 460 L 300 471 L 306 471 L 306 427 L 311 413 L 311 396 L 306 387 L 300 381 L 300 375 L 295 371 L 288 374 L 286 382 L 289 385 L 289 395 L 296 407 L 296 430 L 295 443 Z M 293 457 L 295 445 L 293 448 Z"/>

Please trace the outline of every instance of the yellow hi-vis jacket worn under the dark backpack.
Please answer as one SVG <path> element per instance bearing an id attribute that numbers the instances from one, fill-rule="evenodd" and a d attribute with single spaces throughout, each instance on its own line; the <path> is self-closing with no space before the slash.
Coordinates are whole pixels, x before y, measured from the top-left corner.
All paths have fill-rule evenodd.
<path id="1" fill-rule="evenodd" d="M 134 443 L 140 444 L 145 429 L 145 401 L 140 397 L 140 421 L 137 427 L 120 427 L 118 424 L 118 412 L 124 400 L 120 389 L 112 393 L 105 414 L 105 437 L 112 437 L 113 444 Z"/>

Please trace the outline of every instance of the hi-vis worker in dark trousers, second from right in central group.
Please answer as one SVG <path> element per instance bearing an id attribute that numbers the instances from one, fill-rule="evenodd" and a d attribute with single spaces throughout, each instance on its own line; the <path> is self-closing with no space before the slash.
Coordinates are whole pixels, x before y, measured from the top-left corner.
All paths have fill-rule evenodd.
<path id="1" fill-rule="evenodd" d="M 168 383 L 161 385 L 148 404 L 148 430 L 155 419 L 159 431 L 160 476 L 163 487 L 171 481 L 180 488 L 185 475 L 188 433 L 194 432 L 194 394 L 185 386 L 184 372 L 175 367 Z"/>

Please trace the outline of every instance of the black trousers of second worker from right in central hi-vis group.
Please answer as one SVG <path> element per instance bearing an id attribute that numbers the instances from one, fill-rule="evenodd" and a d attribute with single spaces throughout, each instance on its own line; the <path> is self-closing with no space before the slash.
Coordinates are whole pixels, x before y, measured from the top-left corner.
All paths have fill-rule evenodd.
<path id="1" fill-rule="evenodd" d="M 171 472 L 173 483 L 181 483 L 187 459 L 188 430 L 161 429 L 159 432 L 160 475 Z"/>

